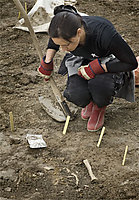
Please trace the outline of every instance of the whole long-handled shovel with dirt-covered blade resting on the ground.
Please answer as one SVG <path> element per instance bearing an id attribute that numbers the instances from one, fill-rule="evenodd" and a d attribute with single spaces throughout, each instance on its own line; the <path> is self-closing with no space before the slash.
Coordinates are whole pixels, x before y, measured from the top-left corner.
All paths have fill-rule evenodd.
<path id="1" fill-rule="evenodd" d="M 15 3 L 17 9 L 20 11 L 21 15 L 23 16 L 23 18 L 25 20 L 26 26 L 28 27 L 30 35 L 32 37 L 34 46 L 35 46 L 37 53 L 39 55 L 39 58 L 41 60 L 43 57 L 43 54 L 42 54 L 38 39 L 34 33 L 32 25 L 29 21 L 28 15 L 26 14 L 26 12 L 19 0 L 13 0 L 13 2 Z M 39 97 L 39 101 L 40 101 L 42 107 L 45 109 L 45 111 L 48 113 L 48 115 L 51 116 L 56 121 L 64 122 L 64 121 L 66 121 L 66 116 L 68 116 L 68 115 L 71 117 L 71 119 L 73 119 L 74 118 L 73 116 L 74 116 L 75 112 L 77 111 L 77 109 L 73 110 L 73 112 L 71 113 L 66 101 L 64 100 L 64 97 L 61 95 L 60 91 L 58 90 L 58 87 L 57 87 L 53 77 L 50 78 L 49 83 L 51 85 L 51 88 L 53 90 L 53 93 L 55 95 L 55 98 L 56 98 L 58 104 L 62 108 L 62 111 L 59 110 L 59 108 L 56 107 L 50 99 L 47 99 L 47 98 L 44 99 L 43 97 Z"/>

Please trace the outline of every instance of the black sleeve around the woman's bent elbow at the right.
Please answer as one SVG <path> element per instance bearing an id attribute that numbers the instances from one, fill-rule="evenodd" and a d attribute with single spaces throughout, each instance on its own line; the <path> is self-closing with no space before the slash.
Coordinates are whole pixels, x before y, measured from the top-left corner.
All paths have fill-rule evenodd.
<path id="1" fill-rule="evenodd" d="M 133 51 L 119 33 L 112 38 L 109 53 L 113 54 L 116 59 L 106 63 L 108 72 L 127 72 L 138 66 Z"/>

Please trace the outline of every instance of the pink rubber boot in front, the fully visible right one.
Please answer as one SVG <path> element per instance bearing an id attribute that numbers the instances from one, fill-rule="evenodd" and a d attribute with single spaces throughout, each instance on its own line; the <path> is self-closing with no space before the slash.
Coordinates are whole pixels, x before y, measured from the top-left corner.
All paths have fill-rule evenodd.
<path id="1" fill-rule="evenodd" d="M 106 106 L 99 108 L 96 104 L 93 105 L 87 124 L 88 131 L 98 131 L 103 126 L 105 110 Z"/>

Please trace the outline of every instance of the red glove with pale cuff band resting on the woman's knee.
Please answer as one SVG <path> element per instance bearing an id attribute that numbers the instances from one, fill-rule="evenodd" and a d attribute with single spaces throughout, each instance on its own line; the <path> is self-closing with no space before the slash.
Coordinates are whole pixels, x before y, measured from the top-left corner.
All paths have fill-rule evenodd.
<path id="1" fill-rule="evenodd" d="M 89 63 L 87 66 L 81 66 L 78 68 L 78 75 L 86 80 L 94 78 L 96 74 L 102 74 L 105 70 L 100 64 L 98 59 L 95 59 Z"/>

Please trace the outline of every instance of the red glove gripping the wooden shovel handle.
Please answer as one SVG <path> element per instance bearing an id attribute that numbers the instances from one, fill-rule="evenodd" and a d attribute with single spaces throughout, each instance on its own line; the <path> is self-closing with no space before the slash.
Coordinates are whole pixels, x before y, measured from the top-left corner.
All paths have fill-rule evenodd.
<path id="1" fill-rule="evenodd" d="M 46 56 L 44 56 L 43 59 L 41 60 L 41 64 L 38 68 L 38 72 L 42 77 L 45 78 L 46 81 L 48 81 L 53 73 L 53 61 L 46 63 L 45 58 Z"/>

